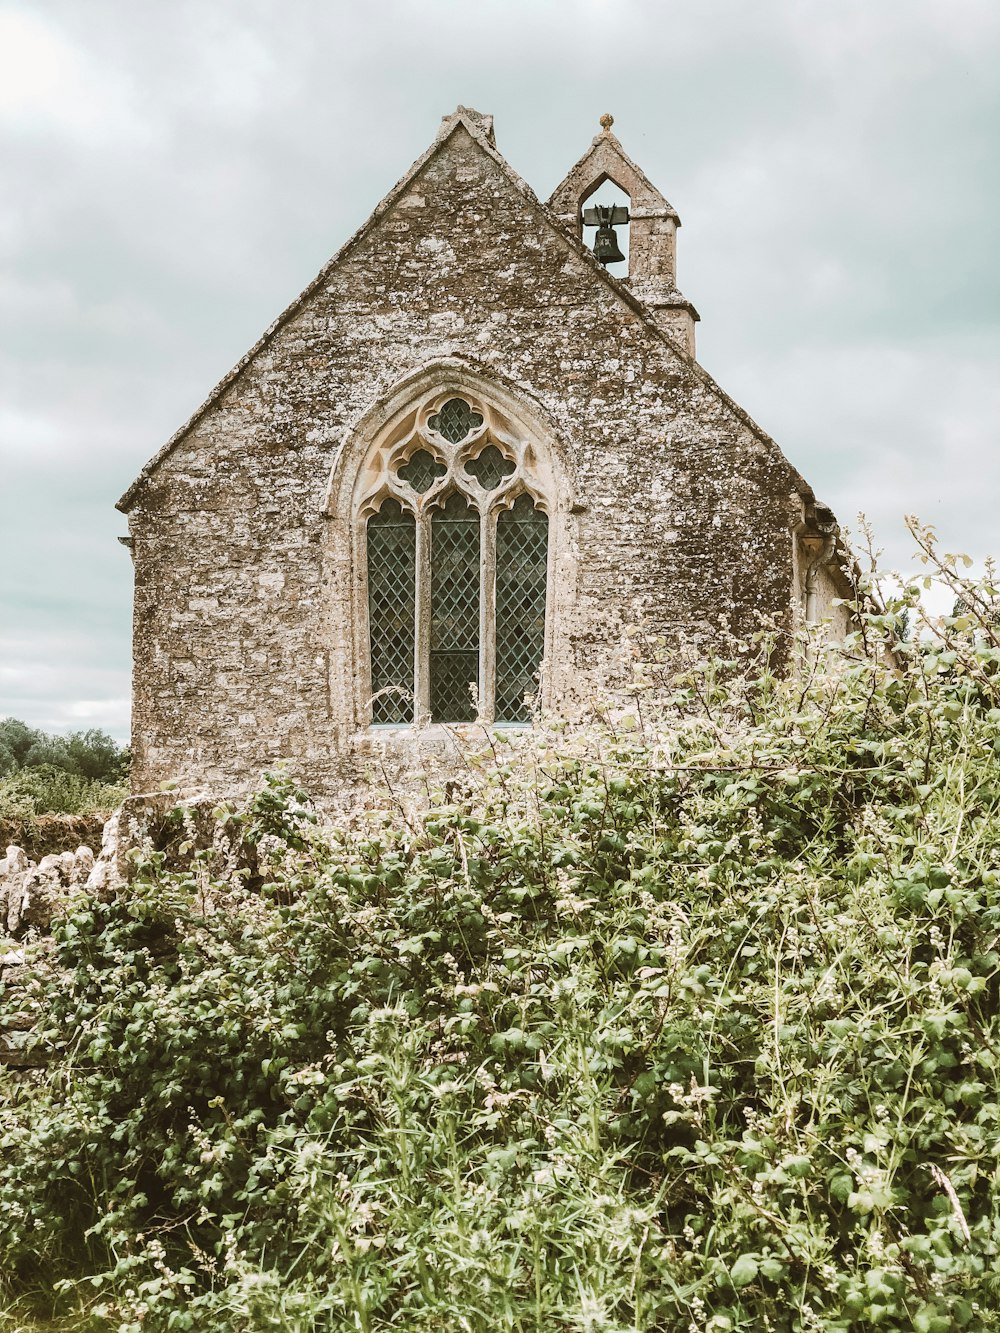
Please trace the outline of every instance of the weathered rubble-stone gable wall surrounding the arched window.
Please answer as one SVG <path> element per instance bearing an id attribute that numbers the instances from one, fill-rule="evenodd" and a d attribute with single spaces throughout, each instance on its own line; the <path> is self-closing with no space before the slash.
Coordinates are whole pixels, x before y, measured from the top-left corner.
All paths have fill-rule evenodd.
<path id="1" fill-rule="evenodd" d="M 353 780 L 359 571 L 331 480 L 379 404 L 435 368 L 504 395 L 565 460 L 549 702 L 613 677 L 628 627 L 676 644 L 760 613 L 791 625 L 808 487 L 452 117 L 123 500 L 136 789 L 245 784 L 279 756 L 317 794 Z"/>

